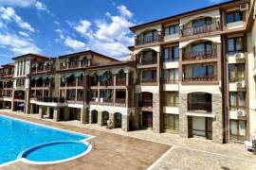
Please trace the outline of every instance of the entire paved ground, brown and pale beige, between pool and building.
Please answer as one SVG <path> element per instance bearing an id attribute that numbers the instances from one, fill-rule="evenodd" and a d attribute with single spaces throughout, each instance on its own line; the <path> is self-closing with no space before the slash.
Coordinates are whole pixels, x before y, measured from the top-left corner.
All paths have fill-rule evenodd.
<path id="1" fill-rule="evenodd" d="M 77 120 L 53 122 L 33 114 L 0 110 L 19 119 L 96 136 L 92 151 L 82 158 L 59 164 L 15 162 L 2 169 L 255 169 L 256 158 L 243 144 L 214 144 L 201 138 L 185 139 L 152 130 L 125 132 Z"/>

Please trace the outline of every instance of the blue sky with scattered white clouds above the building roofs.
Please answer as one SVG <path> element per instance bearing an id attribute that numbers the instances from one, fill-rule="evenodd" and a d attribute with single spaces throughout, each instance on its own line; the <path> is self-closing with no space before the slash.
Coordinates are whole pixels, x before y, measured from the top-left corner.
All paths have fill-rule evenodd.
<path id="1" fill-rule="evenodd" d="M 36 53 L 48 57 L 92 49 L 124 59 L 130 26 L 225 0 L 0 0 L 0 65 Z"/>

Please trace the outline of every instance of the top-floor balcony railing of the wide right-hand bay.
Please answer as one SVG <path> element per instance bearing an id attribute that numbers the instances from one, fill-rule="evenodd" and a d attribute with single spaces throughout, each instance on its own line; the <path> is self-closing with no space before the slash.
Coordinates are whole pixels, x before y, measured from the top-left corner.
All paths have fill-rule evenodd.
<path id="1" fill-rule="evenodd" d="M 182 37 L 192 36 L 192 35 L 216 31 L 219 29 L 220 29 L 220 26 L 218 22 L 212 23 L 210 25 L 204 25 L 204 26 L 185 27 L 181 29 L 181 36 Z"/>

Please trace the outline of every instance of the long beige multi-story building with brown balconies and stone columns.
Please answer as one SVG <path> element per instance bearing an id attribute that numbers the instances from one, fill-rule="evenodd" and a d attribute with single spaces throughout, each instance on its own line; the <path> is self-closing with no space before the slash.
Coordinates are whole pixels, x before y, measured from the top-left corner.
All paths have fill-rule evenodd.
<path id="1" fill-rule="evenodd" d="M 55 121 L 249 140 L 256 132 L 255 14 L 255 0 L 233 0 L 132 26 L 135 45 L 123 61 L 93 51 L 14 58 L 13 87 L 1 89 L 12 99 L 0 100 Z"/>

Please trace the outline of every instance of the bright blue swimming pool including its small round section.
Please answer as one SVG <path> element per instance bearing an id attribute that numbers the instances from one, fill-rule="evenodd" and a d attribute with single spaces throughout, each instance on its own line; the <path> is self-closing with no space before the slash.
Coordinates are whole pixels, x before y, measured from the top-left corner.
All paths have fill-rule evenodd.
<path id="1" fill-rule="evenodd" d="M 57 162 L 88 151 L 90 136 L 0 115 L 0 165 L 23 159 Z"/>

